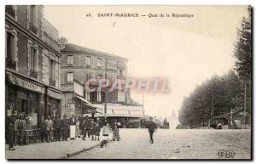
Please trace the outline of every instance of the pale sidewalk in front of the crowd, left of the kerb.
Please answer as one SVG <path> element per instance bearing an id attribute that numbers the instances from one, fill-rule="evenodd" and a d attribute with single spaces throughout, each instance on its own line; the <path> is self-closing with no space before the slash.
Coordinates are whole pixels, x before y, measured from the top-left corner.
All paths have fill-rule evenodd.
<path id="1" fill-rule="evenodd" d="M 100 141 L 92 141 L 88 138 L 82 138 L 68 141 L 59 141 L 51 143 L 38 143 L 28 145 L 16 145 L 16 150 L 9 150 L 8 145 L 5 146 L 6 159 L 60 159 L 67 154 L 88 149 L 92 146 L 100 144 Z"/>

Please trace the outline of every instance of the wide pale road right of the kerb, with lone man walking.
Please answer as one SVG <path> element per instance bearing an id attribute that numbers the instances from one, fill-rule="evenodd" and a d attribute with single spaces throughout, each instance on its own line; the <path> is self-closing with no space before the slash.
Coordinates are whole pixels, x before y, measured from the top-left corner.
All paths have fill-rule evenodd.
<path id="1" fill-rule="evenodd" d="M 158 129 L 149 144 L 147 129 L 120 129 L 121 141 L 85 151 L 72 159 L 225 159 L 219 150 L 235 152 L 234 159 L 250 159 L 250 130 Z M 230 159 L 230 158 L 228 158 Z"/>

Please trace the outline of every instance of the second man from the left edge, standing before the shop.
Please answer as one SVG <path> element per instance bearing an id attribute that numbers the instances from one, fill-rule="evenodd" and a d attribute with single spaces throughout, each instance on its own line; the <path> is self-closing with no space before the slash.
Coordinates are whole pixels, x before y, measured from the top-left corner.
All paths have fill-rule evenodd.
<path id="1" fill-rule="evenodd" d="M 18 144 L 25 144 L 24 135 L 26 130 L 26 122 L 24 120 L 24 116 L 20 115 L 19 118 L 15 122 L 15 130 L 17 131 L 17 139 Z"/>

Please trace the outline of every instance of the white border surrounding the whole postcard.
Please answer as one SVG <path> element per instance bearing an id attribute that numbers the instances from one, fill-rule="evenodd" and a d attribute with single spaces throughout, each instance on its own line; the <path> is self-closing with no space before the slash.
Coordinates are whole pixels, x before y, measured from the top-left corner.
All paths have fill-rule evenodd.
<path id="1" fill-rule="evenodd" d="M 5 160 L 5 144 L 4 144 L 4 126 L 5 126 L 5 117 L 4 117 L 4 88 L 5 88 L 5 81 L 4 81 L 4 70 L 5 70 L 5 65 L 4 65 L 4 48 L 5 48 L 5 40 L 4 40 L 4 5 L 5 4 L 59 4 L 59 5 L 75 5 L 75 4 L 88 4 L 88 5 L 117 5 L 117 4 L 130 4 L 130 5 L 136 5 L 136 4 L 152 4 L 152 5 L 246 5 L 246 4 L 250 4 L 254 7 L 255 10 L 255 0 L 108 0 L 108 1 L 104 1 L 104 0 L 94 0 L 94 1 L 89 1 L 89 0 L 63 0 L 63 1 L 58 1 L 58 0 L 44 0 L 44 1 L 34 1 L 34 0 L 5 0 L 4 1 L 0 1 L 0 28 L 1 28 L 1 36 L 0 37 L 0 49 L 2 51 L 2 59 L 0 59 L 0 91 L 2 92 L 0 94 L 0 105 L 1 105 L 1 118 L 0 120 L 2 121 L 0 124 L 1 127 L 1 141 L 0 141 L 0 159 L 1 159 L 1 163 L 7 163 L 10 161 L 6 161 Z M 253 15 L 253 22 L 255 20 L 255 15 Z M 255 24 L 253 25 L 253 31 L 255 30 Z M 253 47 L 255 48 L 255 42 L 253 42 Z M 255 62 L 255 57 L 253 59 Z M 253 76 L 255 76 L 255 70 L 253 69 Z M 254 88 L 255 88 L 255 81 L 253 82 L 254 84 Z M 255 101 L 255 96 L 253 98 L 253 100 Z M 255 113 L 256 111 L 253 111 L 253 119 L 255 120 Z M 254 126 L 253 126 L 254 127 Z M 255 136 L 255 135 L 253 135 Z M 255 140 L 254 140 L 255 142 Z M 255 150 L 253 150 L 253 152 L 255 152 Z M 254 154 L 254 153 L 253 153 Z M 255 158 L 255 156 L 253 155 L 253 157 Z M 12 161 L 13 162 L 13 161 Z M 15 163 L 21 163 L 22 161 L 15 161 Z M 27 161 L 25 161 L 27 162 Z M 33 161 L 35 162 L 35 161 Z M 55 161 L 37 161 L 37 162 L 48 162 L 48 163 L 54 163 Z M 61 161 L 63 163 L 69 163 L 69 162 L 75 162 L 75 161 Z M 83 161 L 84 162 L 84 161 Z M 88 161 L 87 161 L 88 162 Z M 111 161 L 98 161 L 100 163 L 104 162 L 111 162 Z M 121 162 L 121 161 L 119 161 Z M 124 162 L 124 161 L 123 161 Z M 132 161 L 132 162 L 136 162 L 136 161 Z M 146 162 L 146 161 L 143 161 Z M 157 161 L 160 162 L 160 161 Z M 173 161 L 170 161 L 173 162 Z M 185 161 L 182 161 L 181 163 L 184 163 Z M 196 162 L 196 161 L 194 161 Z M 204 161 L 203 163 L 207 163 L 209 161 Z M 221 161 L 224 162 L 224 161 Z M 229 162 L 229 161 L 228 161 Z M 238 161 L 237 163 L 240 163 L 242 161 Z M 141 163 L 141 162 L 140 162 Z"/>

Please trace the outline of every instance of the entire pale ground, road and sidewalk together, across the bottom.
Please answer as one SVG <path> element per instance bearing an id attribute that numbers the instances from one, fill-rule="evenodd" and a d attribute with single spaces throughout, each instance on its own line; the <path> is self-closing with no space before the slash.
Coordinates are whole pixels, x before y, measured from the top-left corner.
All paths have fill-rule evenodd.
<path id="1" fill-rule="evenodd" d="M 250 159 L 251 131 L 214 129 L 157 129 L 154 144 L 149 143 L 148 129 L 119 129 L 121 140 L 100 148 L 99 141 L 86 139 L 67 142 L 38 143 L 15 146 L 7 159 L 60 159 L 88 149 L 69 159 Z M 234 152 L 234 156 L 219 156 L 219 151 Z"/>

